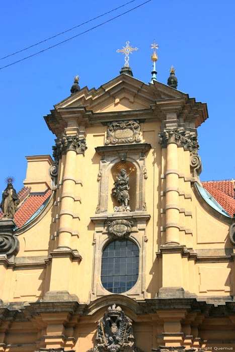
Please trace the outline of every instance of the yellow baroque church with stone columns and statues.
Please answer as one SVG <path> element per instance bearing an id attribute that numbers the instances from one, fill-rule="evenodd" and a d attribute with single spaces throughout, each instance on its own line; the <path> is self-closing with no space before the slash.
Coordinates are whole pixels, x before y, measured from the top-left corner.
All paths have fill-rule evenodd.
<path id="1" fill-rule="evenodd" d="M 53 158 L 2 201 L 1 352 L 235 348 L 233 186 L 200 182 L 206 104 L 155 73 L 76 77 L 44 117 Z"/>

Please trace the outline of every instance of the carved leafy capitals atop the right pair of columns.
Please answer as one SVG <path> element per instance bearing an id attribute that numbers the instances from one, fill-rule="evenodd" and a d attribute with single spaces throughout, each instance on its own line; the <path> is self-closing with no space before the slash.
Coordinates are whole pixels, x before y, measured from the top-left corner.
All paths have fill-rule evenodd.
<path id="1" fill-rule="evenodd" d="M 185 149 L 190 150 L 191 154 L 197 154 L 199 144 L 197 136 L 190 135 L 186 131 L 180 131 L 179 128 L 164 129 L 159 133 L 160 141 L 163 148 L 167 147 L 168 143 L 177 143 L 179 146 L 184 146 Z"/>

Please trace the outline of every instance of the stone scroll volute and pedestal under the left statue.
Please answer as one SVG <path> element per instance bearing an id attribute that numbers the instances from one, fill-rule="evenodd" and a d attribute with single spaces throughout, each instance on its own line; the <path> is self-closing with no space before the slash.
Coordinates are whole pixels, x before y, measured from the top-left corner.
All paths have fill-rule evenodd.
<path id="1" fill-rule="evenodd" d="M 20 249 L 20 242 L 14 234 L 16 223 L 13 219 L 3 218 L 0 220 L 0 255 L 17 255 Z"/>

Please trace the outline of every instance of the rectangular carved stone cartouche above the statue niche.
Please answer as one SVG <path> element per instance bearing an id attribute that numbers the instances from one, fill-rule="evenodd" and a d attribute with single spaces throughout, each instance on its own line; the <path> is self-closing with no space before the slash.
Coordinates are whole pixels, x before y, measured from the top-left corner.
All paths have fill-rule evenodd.
<path id="1" fill-rule="evenodd" d="M 113 121 L 108 123 L 105 145 L 139 143 L 141 141 L 139 121 Z"/>

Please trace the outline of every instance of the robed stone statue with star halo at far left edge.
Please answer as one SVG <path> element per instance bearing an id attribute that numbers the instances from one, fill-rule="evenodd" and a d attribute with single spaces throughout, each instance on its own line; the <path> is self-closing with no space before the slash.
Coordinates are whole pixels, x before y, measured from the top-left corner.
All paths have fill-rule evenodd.
<path id="1" fill-rule="evenodd" d="M 3 192 L 2 202 L 0 208 L 4 213 L 4 217 L 14 219 L 17 206 L 20 203 L 16 190 L 13 188 L 11 182 L 8 183 L 6 190 Z"/>

